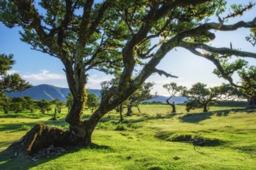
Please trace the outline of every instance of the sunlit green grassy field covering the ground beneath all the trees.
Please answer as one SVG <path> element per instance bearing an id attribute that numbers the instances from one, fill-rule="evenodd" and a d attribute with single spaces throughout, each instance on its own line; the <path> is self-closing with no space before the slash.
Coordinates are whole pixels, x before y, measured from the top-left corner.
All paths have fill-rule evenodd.
<path id="1" fill-rule="evenodd" d="M 124 117 L 111 112 L 99 123 L 91 148 L 67 148 L 50 158 L 9 158 L 4 149 L 36 123 L 67 128 L 65 114 L 0 114 L 0 169 L 256 169 L 256 110 L 212 107 L 185 112 L 167 105 L 142 105 L 142 113 Z M 63 111 L 64 113 L 65 111 Z M 85 112 L 87 117 L 89 112 Z M 203 146 L 189 142 L 195 134 Z"/>

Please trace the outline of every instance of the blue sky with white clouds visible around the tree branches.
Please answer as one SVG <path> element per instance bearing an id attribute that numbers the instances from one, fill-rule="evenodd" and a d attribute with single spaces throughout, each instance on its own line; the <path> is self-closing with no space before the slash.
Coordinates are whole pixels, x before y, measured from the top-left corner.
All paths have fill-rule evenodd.
<path id="1" fill-rule="evenodd" d="M 229 2 L 242 2 L 238 0 Z M 243 0 L 243 2 L 251 2 Z M 255 0 L 252 2 L 256 2 Z M 243 16 L 236 19 L 229 19 L 229 24 L 240 20 L 251 21 L 256 17 L 256 7 L 245 12 Z M 216 22 L 217 18 L 211 18 L 210 22 Z M 213 31 L 214 32 L 214 31 Z M 252 46 L 245 40 L 245 36 L 250 34 L 249 29 L 237 29 L 235 32 L 214 32 L 216 39 L 210 42 L 211 46 L 230 47 L 230 42 L 234 48 L 244 51 L 256 53 L 256 46 Z M 14 54 L 16 64 L 12 66 L 9 73 L 19 73 L 23 79 L 29 81 L 33 85 L 50 84 L 56 87 L 67 87 L 67 80 L 64 74 L 64 66 L 61 61 L 53 56 L 30 49 L 30 46 L 19 40 L 19 28 L 9 29 L 0 22 L 0 53 Z M 250 65 L 256 65 L 256 59 L 247 59 Z M 206 83 L 208 87 L 218 86 L 221 83 L 227 83 L 226 80 L 218 78 L 214 75 L 215 66 L 210 61 L 195 56 L 186 49 L 177 48 L 169 52 L 158 69 L 164 70 L 178 76 L 175 78 L 166 78 L 154 74 L 147 81 L 154 82 L 154 89 L 151 93 L 157 92 L 159 95 L 168 96 L 168 92 L 162 87 L 165 83 L 175 82 L 178 85 L 191 87 L 192 84 L 201 82 Z M 88 78 L 87 88 L 100 89 L 100 83 L 110 80 L 112 76 L 92 71 Z M 238 81 L 238 79 L 237 79 Z"/>

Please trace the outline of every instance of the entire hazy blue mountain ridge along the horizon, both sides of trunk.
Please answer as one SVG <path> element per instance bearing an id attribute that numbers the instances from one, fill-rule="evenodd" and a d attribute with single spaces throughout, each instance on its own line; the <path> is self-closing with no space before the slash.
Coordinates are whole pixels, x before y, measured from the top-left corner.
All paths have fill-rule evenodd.
<path id="1" fill-rule="evenodd" d="M 98 97 L 100 96 L 100 90 L 98 89 L 88 89 L 89 93 L 95 93 Z M 9 98 L 12 97 L 26 97 L 29 96 L 32 100 L 54 100 L 59 99 L 61 101 L 67 101 L 66 96 L 69 93 L 69 88 L 63 87 L 54 87 L 48 84 L 40 84 L 38 86 L 31 87 L 24 91 L 15 91 L 13 93 L 5 93 Z M 150 100 L 145 100 L 145 102 L 161 102 L 166 104 L 166 100 L 168 97 L 158 96 L 154 97 Z M 171 98 L 170 102 L 173 101 L 175 104 L 183 104 L 185 102 L 185 97 L 173 97 Z"/>

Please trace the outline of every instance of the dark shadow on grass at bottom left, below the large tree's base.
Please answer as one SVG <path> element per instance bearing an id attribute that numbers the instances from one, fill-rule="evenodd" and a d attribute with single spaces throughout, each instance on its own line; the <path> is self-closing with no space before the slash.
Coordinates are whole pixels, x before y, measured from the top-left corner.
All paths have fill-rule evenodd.
<path id="1" fill-rule="evenodd" d="M 37 159 L 32 159 L 33 157 L 26 156 L 26 155 L 19 155 L 18 157 L 15 158 L 15 156 L 13 155 L 13 152 L 9 151 L 9 149 L 6 149 L 5 151 L 0 152 L 0 169 L 1 170 L 29 169 L 46 162 L 50 162 L 54 159 L 60 158 L 61 156 L 64 156 L 66 154 L 72 154 L 72 153 L 78 152 L 81 149 L 85 149 L 85 147 L 82 147 L 82 146 L 70 147 L 70 148 L 66 148 L 67 153 L 55 154 L 55 155 L 50 155 L 49 158 L 37 158 Z M 112 151 L 112 148 L 110 148 L 109 146 L 95 145 L 95 144 L 88 147 L 87 149 L 97 149 L 99 151 L 102 151 L 102 150 Z"/>

